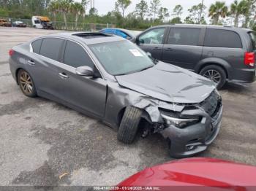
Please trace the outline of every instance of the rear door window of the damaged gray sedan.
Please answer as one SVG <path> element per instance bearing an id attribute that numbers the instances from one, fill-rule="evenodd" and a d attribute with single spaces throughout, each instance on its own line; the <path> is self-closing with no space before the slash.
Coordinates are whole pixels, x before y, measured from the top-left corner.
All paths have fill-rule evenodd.
<path id="1" fill-rule="evenodd" d="M 40 50 L 40 55 L 43 55 L 47 58 L 58 61 L 59 52 L 61 50 L 61 46 L 64 40 L 62 39 L 54 39 L 54 38 L 46 38 L 42 40 L 42 46 Z"/>

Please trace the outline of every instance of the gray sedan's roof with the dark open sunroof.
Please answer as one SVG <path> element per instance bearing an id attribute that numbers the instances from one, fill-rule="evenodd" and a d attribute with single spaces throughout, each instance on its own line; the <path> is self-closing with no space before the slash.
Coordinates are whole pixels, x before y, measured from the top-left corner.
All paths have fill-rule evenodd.
<path id="1" fill-rule="evenodd" d="M 125 40 L 119 36 L 113 36 L 110 34 L 101 34 L 98 32 L 60 33 L 60 34 L 50 34 L 50 35 L 43 36 L 43 37 L 45 37 L 45 38 L 47 38 L 47 37 L 57 37 L 58 38 L 59 37 L 59 38 L 64 38 L 64 39 L 70 39 L 70 40 L 83 42 L 86 45 Z"/>

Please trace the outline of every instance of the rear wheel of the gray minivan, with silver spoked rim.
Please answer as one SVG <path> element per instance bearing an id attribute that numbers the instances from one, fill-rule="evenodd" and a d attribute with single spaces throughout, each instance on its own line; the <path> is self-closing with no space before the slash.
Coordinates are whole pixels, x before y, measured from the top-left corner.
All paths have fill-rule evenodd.
<path id="1" fill-rule="evenodd" d="M 211 81 L 217 85 L 217 89 L 222 88 L 223 85 L 225 85 L 227 79 L 227 75 L 224 69 L 216 65 L 209 65 L 204 67 L 199 74 L 203 77 L 211 79 Z"/>

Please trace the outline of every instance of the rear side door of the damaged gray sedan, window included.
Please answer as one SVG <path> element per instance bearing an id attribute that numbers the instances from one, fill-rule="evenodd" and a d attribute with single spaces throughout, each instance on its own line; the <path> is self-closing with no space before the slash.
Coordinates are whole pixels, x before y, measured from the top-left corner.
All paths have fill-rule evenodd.
<path id="1" fill-rule="evenodd" d="M 45 38 L 32 42 L 34 54 L 27 61 L 37 90 L 53 96 L 59 95 L 58 65 L 64 39 Z"/>

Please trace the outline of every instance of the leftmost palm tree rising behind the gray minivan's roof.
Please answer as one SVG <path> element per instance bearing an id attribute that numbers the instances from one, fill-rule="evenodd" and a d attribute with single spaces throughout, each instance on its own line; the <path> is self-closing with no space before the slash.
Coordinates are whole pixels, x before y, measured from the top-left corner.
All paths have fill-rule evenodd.
<path id="1" fill-rule="evenodd" d="M 225 2 L 216 1 L 215 4 L 211 4 L 209 9 L 209 17 L 213 19 L 213 24 L 217 25 L 219 23 L 219 17 L 225 18 L 227 16 L 227 6 Z"/>

